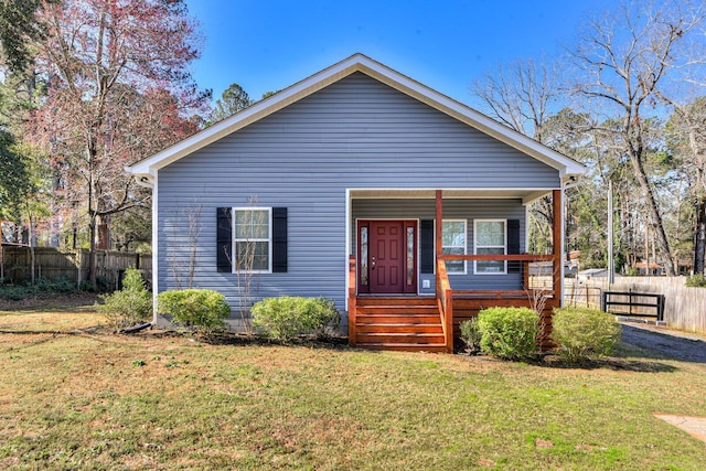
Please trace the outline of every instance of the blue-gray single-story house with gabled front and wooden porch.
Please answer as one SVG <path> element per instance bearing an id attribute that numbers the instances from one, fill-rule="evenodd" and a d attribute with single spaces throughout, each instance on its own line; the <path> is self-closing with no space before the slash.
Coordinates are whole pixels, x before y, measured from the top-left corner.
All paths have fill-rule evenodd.
<path id="1" fill-rule="evenodd" d="M 584 167 L 355 54 L 126 170 L 153 192 L 156 292 L 237 307 L 249 247 L 253 299 L 323 296 L 352 345 L 452 351 L 479 309 L 531 306 L 530 263 L 560 303 L 563 244 L 524 254 L 527 205 L 561 215 Z"/>

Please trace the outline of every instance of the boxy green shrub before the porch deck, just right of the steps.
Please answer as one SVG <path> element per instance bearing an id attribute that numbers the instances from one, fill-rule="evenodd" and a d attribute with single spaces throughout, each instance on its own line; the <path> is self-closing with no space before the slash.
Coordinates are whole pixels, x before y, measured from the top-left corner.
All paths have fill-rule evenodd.
<path id="1" fill-rule="evenodd" d="M 481 351 L 503 360 L 537 353 L 539 315 L 530 308 L 490 308 L 478 314 Z"/>

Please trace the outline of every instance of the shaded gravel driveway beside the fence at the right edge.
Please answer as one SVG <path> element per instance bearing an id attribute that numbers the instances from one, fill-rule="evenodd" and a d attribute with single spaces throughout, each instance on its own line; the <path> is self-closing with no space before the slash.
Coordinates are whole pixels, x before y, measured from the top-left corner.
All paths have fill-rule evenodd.
<path id="1" fill-rule="evenodd" d="M 622 341 L 650 350 L 655 356 L 706 363 L 706 339 L 648 325 L 622 324 Z"/>

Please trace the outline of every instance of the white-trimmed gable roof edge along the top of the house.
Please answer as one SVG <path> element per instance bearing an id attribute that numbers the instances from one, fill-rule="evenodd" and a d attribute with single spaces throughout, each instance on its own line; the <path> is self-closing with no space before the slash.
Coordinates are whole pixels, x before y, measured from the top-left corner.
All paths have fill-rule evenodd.
<path id="1" fill-rule="evenodd" d="M 157 171 L 192 152 L 208 146 L 218 139 L 231 135 L 266 116 L 269 116 L 295 101 L 298 101 L 327 86 L 353 74 L 361 72 L 392 88 L 422 101 L 432 108 L 445 113 L 468 126 L 480 130 L 504 143 L 511 146 L 545 164 L 559 171 L 564 182 L 573 180 L 584 173 L 584 165 L 556 152 L 548 147 L 531 139 L 488 116 L 440 94 L 406 75 L 403 75 L 363 54 L 354 54 L 323 71 L 304 78 L 301 82 L 266 98 L 250 107 L 222 120 L 208 128 L 143 159 L 125 170 L 137 175 L 140 180 L 151 181 Z"/>

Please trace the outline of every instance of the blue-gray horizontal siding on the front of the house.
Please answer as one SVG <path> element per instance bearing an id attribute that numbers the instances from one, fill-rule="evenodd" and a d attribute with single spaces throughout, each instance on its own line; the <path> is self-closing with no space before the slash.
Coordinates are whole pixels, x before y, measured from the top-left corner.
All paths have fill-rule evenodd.
<path id="1" fill-rule="evenodd" d="M 558 186 L 556 170 L 356 73 L 159 171 L 159 290 L 175 288 L 173 271 L 189 265 L 190 207 L 201 213 L 195 287 L 217 289 L 236 304 L 236 276 L 215 270 L 215 214 L 256 196 L 258 206 L 286 206 L 289 227 L 288 272 L 257 276 L 259 297 L 327 296 L 343 308 L 352 250 L 346 189 Z M 434 202 L 419 203 L 419 210 L 379 203 L 377 211 L 432 217 Z M 356 214 L 375 213 L 366 204 L 356 201 Z M 469 231 L 480 214 L 515 214 L 524 224 L 517 201 L 449 201 L 445 211 L 469 217 Z"/>

